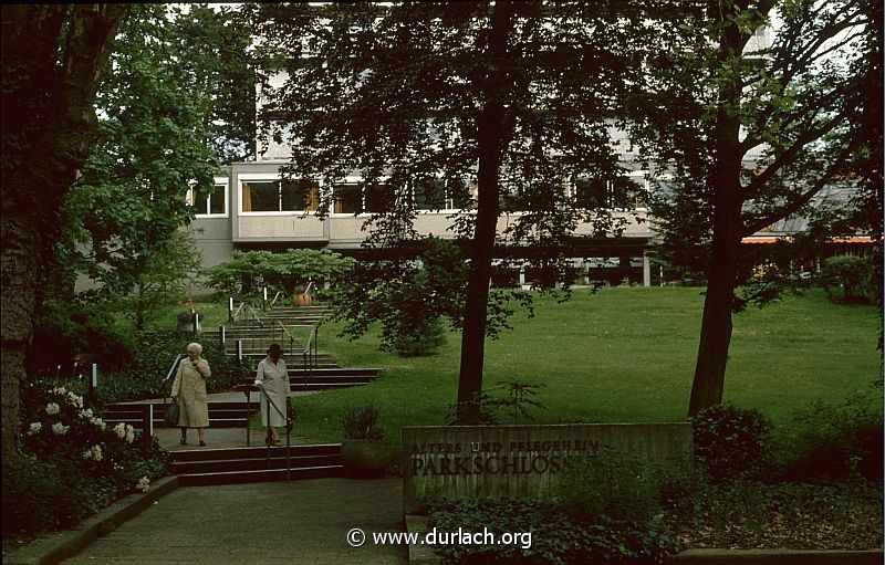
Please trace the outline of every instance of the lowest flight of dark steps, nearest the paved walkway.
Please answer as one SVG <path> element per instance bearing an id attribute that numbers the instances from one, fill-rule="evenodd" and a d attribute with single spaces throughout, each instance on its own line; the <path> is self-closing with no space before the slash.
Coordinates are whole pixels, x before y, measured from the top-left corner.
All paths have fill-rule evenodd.
<path id="1" fill-rule="evenodd" d="M 341 477 L 341 444 L 174 451 L 169 471 L 183 486 Z"/>

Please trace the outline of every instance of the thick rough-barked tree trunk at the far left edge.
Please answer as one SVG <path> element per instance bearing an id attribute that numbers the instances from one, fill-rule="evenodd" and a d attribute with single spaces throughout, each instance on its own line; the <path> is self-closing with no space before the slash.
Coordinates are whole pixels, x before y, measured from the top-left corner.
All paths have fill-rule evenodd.
<path id="1" fill-rule="evenodd" d="M 94 133 L 93 102 L 126 4 L 2 8 L 2 447 L 18 456 L 19 386 L 38 276 Z M 66 23 L 66 29 L 63 24 Z M 64 29 L 62 60 L 56 50 Z"/>

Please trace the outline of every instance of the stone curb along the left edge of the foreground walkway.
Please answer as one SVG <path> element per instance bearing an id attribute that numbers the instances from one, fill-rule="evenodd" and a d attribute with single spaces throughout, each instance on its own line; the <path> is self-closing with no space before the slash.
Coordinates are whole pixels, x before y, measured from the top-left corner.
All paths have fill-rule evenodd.
<path id="1" fill-rule="evenodd" d="M 12 550 L 3 555 L 6 565 L 55 565 L 76 555 L 98 537 L 116 530 L 156 501 L 178 489 L 177 475 L 164 477 L 150 485 L 145 493 L 129 494 L 94 516 L 87 517 L 75 530 L 50 534 L 30 545 Z"/>

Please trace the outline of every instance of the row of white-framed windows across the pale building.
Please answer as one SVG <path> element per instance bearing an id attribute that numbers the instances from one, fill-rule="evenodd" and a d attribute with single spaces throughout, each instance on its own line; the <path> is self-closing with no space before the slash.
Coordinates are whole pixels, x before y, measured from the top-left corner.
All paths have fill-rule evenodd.
<path id="1" fill-rule="evenodd" d="M 188 203 L 197 216 L 227 216 L 227 179 L 216 178 L 211 190 L 194 188 Z M 624 177 L 620 182 L 579 179 L 572 196 L 582 208 L 642 208 L 647 189 L 644 178 Z M 240 212 L 311 212 L 320 208 L 320 185 L 279 179 L 240 182 Z M 394 209 L 397 192 L 385 182 L 342 182 L 332 185 L 333 213 L 379 213 Z M 413 187 L 412 201 L 417 210 L 459 210 L 470 208 L 472 197 L 466 182 L 441 180 Z M 507 197 L 503 196 L 502 200 Z M 502 202 L 503 203 L 503 202 Z"/>

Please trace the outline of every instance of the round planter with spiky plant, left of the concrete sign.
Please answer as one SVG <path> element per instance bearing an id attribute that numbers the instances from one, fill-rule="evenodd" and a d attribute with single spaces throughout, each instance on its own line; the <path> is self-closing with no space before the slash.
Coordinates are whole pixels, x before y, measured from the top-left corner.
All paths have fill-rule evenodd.
<path id="1" fill-rule="evenodd" d="M 345 474 L 357 479 L 384 475 L 391 464 L 391 444 L 378 423 L 377 408 L 372 402 L 346 408 L 342 428 L 341 461 Z"/>

